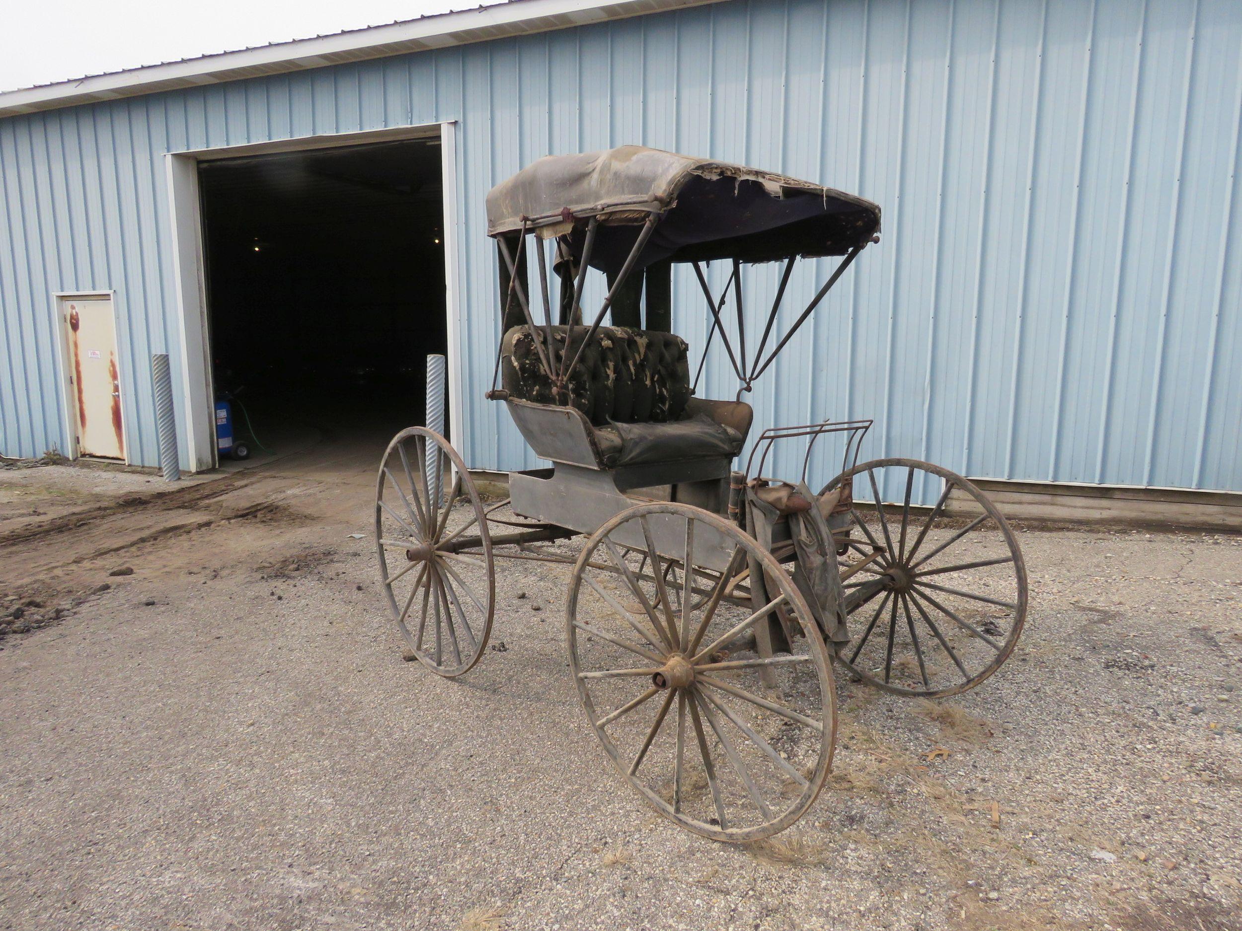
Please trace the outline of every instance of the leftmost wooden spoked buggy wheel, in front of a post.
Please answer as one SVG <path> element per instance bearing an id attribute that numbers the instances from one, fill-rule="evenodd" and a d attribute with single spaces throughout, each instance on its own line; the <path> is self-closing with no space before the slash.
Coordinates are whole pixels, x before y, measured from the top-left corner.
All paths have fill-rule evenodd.
<path id="1" fill-rule="evenodd" d="M 440 675 L 473 667 L 492 633 L 492 540 L 474 482 L 438 433 L 410 427 L 389 443 L 375 484 L 375 551 L 406 647 Z"/>

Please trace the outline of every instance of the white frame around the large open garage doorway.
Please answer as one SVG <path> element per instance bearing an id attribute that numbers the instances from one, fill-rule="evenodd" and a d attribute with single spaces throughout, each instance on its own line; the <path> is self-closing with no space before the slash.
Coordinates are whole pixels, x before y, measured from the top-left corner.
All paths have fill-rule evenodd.
<path id="1" fill-rule="evenodd" d="M 184 470 L 202 472 L 215 468 L 217 463 L 215 396 L 211 384 L 211 339 L 207 330 L 206 266 L 199 199 L 199 163 L 247 155 L 330 149 L 340 145 L 365 145 L 397 139 L 436 138 L 440 139 L 441 145 L 441 190 L 445 205 L 445 324 L 448 338 L 448 411 L 453 433 L 457 433 L 461 430 L 462 396 L 457 333 L 461 322 L 458 258 L 462 247 L 462 231 L 458 202 L 461 191 L 457 173 L 457 124 L 455 122 L 421 123 L 361 133 L 307 135 L 268 143 L 170 151 L 164 156 L 169 215 L 173 226 L 173 267 L 179 309 L 178 335 L 181 343 L 181 392 L 186 416 L 184 431 L 189 451 L 189 462 L 181 463 Z"/>

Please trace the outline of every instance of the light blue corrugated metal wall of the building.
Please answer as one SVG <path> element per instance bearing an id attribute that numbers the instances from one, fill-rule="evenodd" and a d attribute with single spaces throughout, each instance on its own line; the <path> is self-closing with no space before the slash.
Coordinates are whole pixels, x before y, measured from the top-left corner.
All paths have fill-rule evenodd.
<path id="1" fill-rule="evenodd" d="M 866 454 L 1242 490 L 1240 118 L 1236 0 L 787 0 L 0 119 L 0 449 L 65 446 L 48 295 L 116 288 L 127 432 L 155 463 L 145 360 L 180 364 L 163 153 L 460 120 L 474 466 L 530 462 L 482 398 L 487 189 L 642 143 L 884 207 L 883 242 L 753 396 L 759 423 L 874 416 Z M 776 274 L 751 272 L 756 325 Z M 702 297 L 688 276 L 674 293 L 697 361 Z M 795 281 L 785 323 L 811 293 Z M 729 397 L 717 353 L 700 394 Z"/>

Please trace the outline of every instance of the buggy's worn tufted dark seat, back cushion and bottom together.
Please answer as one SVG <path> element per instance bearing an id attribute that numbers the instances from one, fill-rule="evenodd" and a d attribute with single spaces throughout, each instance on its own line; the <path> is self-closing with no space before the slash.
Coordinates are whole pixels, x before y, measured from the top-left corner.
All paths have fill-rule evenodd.
<path id="1" fill-rule="evenodd" d="M 553 326 L 555 359 L 566 345 L 573 359 L 587 333 L 586 326 Z M 545 343 L 542 326 L 504 334 L 501 374 L 512 398 L 560 406 L 540 359 Z M 732 458 L 750 427 L 749 405 L 691 397 L 686 340 L 672 333 L 601 326 L 566 389 L 569 403 L 590 421 L 601 468 Z"/>

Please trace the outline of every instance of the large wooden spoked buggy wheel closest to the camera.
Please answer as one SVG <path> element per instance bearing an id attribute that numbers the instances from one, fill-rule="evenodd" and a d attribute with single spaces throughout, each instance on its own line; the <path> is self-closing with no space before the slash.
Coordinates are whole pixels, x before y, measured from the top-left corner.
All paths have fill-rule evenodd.
<path id="1" fill-rule="evenodd" d="M 748 566 L 771 598 L 759 609 L 740 593 Z M 777 608 L 790 652 L 764 658 L 756 636 Z M 832 664 L 792 580 L 737 525 L 686 504 L 622 511 L 574 566 L 565 631 L 595 736 L 666 818 L 755 840 L 815 802 L 836 739 Z"/>

